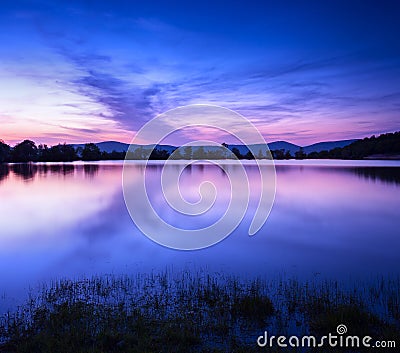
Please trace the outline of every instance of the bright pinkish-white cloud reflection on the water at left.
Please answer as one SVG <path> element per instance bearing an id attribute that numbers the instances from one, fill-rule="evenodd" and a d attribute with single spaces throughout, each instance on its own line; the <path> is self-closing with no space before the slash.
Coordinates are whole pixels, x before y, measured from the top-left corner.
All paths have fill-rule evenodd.
<path id="1" fill-rule="evenodd" d="M 32 236 L 43 245 L 42 237 L 56 239 L 60 229 L 107 207 L 121 180 L 120 168 L 112 166 L 29 163 L 13 164 L 10 170 L 0 189 L 0 199 L 6 200 L 0 204 L 0 248 Z"/>

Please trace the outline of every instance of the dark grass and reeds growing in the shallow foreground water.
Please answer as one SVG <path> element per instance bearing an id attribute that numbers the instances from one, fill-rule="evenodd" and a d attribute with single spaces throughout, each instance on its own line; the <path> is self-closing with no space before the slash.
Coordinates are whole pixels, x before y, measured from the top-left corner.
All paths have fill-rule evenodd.
<path id="1" fill-rule="evenodd" d="M 351 286 L 182 272 L 61 280 L 1 318 L 0 352 L 368 352 L 260 348 L 269 335 L 369 335 L 400 345 L 400 278 Z"/>

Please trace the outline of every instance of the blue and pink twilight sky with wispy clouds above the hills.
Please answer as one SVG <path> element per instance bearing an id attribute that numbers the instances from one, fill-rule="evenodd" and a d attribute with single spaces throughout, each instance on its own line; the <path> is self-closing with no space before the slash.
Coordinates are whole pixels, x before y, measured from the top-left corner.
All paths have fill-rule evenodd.
<path id="1" fill-rule="evenodd" d="M 2 0 L 0 139 L 130 142 L 187 104 L 232 109 L 267 142 L 398 131 L 399 37 L 396 0 Z"/>

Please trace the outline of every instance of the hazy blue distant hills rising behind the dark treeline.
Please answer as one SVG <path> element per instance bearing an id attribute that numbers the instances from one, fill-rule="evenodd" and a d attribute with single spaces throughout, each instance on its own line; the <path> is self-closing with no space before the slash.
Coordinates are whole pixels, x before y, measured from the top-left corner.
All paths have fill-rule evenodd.
<path id="1" fill-rule="evenodd" d="M 331 149 L 337 148 L 337 147 L 345 147 L 351 143 L 353 143 L 354 141 L 357 140 L 340 140 L 340 141 L 328 141 L 328 142 L 318 142 L 318 143 L 314 143 L 312 145 L 309 146 L 303 146 L 303 150 L 305 153 L 311 153 L 311 152 L 321 152 L 321 151 L 329 151 Z M 129 148 L 129 144 L 127 143 L 122 143 L 122 142 L 118 142 L 118 141 L 104 141 L 104 142 L 98 142 L 96 143 L 96 145 L 100 148 L 101 152 L 107 152 L 107 153 L 111 153 L 113 151 L 116 152 L 126 152 Z M 84 147 L 84 144 L 75 144 L 72 145 L 74 148 L 78 148 L 78 147 Z M 142 147 L 144 149 L 153 149 L 154 148 L 154 144 L 151 145 L 134 145 L 131 147 L 131 150 L 135 150 L 138 147 Z M 255 148 L 256 151 L 258 151 L 259 149 L 264 149 L 263 145 L 251 145 L 251 147 Z M 285 151 L 289 151 L 292 155 L 294 155 L 297 151 L 300 150 L 301 146 L 299 145 L 295 145 L 293 143 L 290 142 L 286 142 L 286 141 L 275 141 L 275 142 L 271 142 L 268 144 L 268 147 L 271 151 L 275 151 L 275 150 L 285 150 Z M 157 149 L 158 150 L 166 150 L 169 153 L 172 153 L 177 147 L 176 146 L 171 146 L 171 145 L 158 145 Z M 193 151 L 195 151 L 198 147 L 194 146 L 193 147 Z M 204 146 L 204 149 L 206 152 L 208 151 L 212 151 L 214 150 L 216 147 L 214 146 Z M 237 148 L 239 150 L 239 152 L 243 155 L 245 155 L 249 149 L 247 146 L 245 145 L 228 145 L 228 148 L 230 150 L 232 150 L 233 148 Z M 264 152 L 264 151 L 263 151 Z"/>

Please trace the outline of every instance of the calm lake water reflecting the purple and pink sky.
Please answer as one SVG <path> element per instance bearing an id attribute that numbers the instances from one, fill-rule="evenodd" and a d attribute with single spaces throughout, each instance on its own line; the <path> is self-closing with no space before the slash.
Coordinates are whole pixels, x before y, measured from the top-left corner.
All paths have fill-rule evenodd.
<path id="1" fill-rule="evenodd" d="M 130 168 L 138 176 L 144 172 L 141 163 Z M 40 283 L 104 273 L 400 274 L 400 162 L 278 162 L 275 203 L 253 237 L 248 228 L 261 186 L 252 162 L 246 172 L 250 204 L 239 227 L 217 245 L 188 252 L 162 247 L 136 228 L 123 198 L 120 162 L 0 165 L 0 311 L 20 304 Z M 192 229 L 223 214 L 230 188 L 217 166 L 192 165 L 180 178 L 191 202 L 202 182 L 217 189 L 217 207 L 199 221 L 180 219 L 165 206 L 161 173 L 160 162 L 147 168 L 147 190 L 166 221 Z"/>

